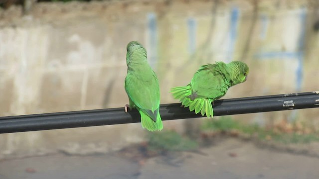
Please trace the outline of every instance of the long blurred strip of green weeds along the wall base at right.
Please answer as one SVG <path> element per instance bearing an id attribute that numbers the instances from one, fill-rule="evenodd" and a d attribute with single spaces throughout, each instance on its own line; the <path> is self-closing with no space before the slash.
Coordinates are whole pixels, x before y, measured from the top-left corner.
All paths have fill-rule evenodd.
<path id="1" fill-rule="evenodd" d="M 231 117 L 221 117 L 220 119 L 206 119 L 201 126 L 202 131 L 229 132 L 238 131 L 241 134 L 257 136 L 260 140 L 273 140 L 285 144 L 289 143 L 310 143 L 319 141 L 319 134 L 301 134 L 298 132 L 274 132 L 266 130 L 256 124 L 243 124 L 233 120 Z"/>

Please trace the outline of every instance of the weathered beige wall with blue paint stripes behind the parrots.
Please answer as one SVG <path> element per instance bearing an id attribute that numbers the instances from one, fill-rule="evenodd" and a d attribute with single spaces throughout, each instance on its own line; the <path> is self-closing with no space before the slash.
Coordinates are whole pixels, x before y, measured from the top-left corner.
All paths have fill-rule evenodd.
<path id="1" fill-rule="evenodd" d="M 116 1 L 38 3 L 30 15 L 0 11 L 0 115 L 123 107 L 126 45 L 142 42 L 159 76 L 161 103 L 200 65 L 241 60 L 248 81 L 224 98 L 318 90 L 316 1 Z M 272 125 L 316 109 L 235 116 Z M 198 120 L 199 121 L 199 120 Z M 183 120 L 164 128 L 183 131 Z M 140 124 L 0 135 L 0 158 L 107 152 L 143 140 Z M 112 137 L 111 137 L 112 136 Z"/>

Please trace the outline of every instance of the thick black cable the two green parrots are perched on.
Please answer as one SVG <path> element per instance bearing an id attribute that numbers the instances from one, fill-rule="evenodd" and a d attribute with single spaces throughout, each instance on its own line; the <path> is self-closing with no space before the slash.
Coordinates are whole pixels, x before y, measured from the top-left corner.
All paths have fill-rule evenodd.
<path id="1" fill-rule="evenodd" d="M 190 112 L 188 107 L 184 108 L 180 105 L 180 103 L 160 105 L 162 120 L 202 117 L 194 111 Z M 213 110 L 214 116 L 221 116 L 314 107 L 319 107 L 318 92 L 217 100 L 214 102 Z M 140 122 L 140 120 L 140 114 L 136 109 L 125 113 L 124 107 L 6 116 L 0 117 L 0 133 L 125 124 Z"/>

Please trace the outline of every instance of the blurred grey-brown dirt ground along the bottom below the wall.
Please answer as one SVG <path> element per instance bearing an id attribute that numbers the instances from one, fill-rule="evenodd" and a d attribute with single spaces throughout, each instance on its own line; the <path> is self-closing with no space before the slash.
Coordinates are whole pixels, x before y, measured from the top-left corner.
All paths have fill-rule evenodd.
<path id="1" fill-rule="evenodd" d="M 318 179 L 319 158 L 223 139 L 200 153 L 132 160 L 123 152 L 0 162 L 0 179 Z"/>

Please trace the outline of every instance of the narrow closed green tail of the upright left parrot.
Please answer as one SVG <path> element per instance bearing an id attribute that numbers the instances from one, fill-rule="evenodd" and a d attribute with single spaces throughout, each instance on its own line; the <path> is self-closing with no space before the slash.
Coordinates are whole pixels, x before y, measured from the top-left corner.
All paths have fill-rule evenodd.
<path id="1" fill-rule="evenodd" d="M 142 127 L 149 130 L 149 131 L 156 131 L 156 130 L 162 130 L 163 129 L 163 123 L 161 122 L 160 113 L 158 113 L 158 117 L 156 119 L 156 122 L 154 122 L 151 117 L 149 117 L 146 113 L 143 111 L 140 111 L 141 114 L 141 122 Z"/>

